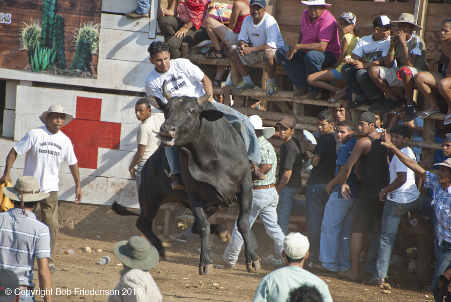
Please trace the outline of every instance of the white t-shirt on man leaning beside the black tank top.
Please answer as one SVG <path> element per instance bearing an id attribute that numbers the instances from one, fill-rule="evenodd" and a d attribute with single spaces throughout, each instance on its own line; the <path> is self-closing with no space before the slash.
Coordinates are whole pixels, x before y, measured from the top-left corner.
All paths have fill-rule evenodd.
<path id="1" fill-rule="evenodd" d="M 401 152 L 407 155 L 412 160 L 415 160 L 415 155 L 412 149 L 409 147 L 404 147 Z M 412 170 L 406 167 L 401 161 L 394 156 L 390 162 L 390 183 L 394 182 L 398 177 L 397 172 L 406 172 L 406 182 L 396 190 L 387 193 L 387 199 L 397 203 L 409 203 L 415 201 L 420 192 L 415 184 L 415 174 Z"/>

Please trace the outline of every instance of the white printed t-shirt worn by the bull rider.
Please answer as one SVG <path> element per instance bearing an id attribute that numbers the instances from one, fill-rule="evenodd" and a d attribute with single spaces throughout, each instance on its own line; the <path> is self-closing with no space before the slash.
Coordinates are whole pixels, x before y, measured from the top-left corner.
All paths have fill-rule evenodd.
<path id="1" fill-rule="evenodd" d="M 160 73 L 154 68 L 145 78 L 145 92 L 148 96 L 156 96 L 164 103 L 168 100 L 163 96 L 163 82 L 173 97 L 201 97 L 205 94 L 202 81 L 204 73 L 188 59 L 170 60 L 169 70 Z"/>

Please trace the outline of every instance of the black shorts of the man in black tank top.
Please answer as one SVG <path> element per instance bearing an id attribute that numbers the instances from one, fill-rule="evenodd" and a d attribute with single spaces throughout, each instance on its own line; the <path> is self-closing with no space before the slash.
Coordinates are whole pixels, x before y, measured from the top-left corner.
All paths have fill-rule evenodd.
<path id="1" fill-rule="evenodd" d="M 384 213 L 384 202 L 376 197 L 359 197 L 354 209 L 354 221 L 352 222 L 352 233 L 367 233 L 373 228 L 380 228 L 382 214 Z"/>

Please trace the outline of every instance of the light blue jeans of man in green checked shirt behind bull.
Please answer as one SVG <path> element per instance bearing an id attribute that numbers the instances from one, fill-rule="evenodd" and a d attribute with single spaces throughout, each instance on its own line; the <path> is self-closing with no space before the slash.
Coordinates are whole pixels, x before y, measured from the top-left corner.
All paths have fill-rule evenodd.
<path id="1" fill-rule="evenodd" d="M 277 201 L 279 196 L 275 188 L 261 189 L 252 191 L 252 207 L 249 213 L 249 228 L 254 224 L 257 216 L 263 221 L 266 233 L 274 241 L 274 250 L 277 255 L 282 257 L 283 240 L 285 235 L 282 233 L 277 221 Z M 237 263 L 238 255 L 243 245 L 243 237 L 237 228 L 237 222 L 235 221 L 235 228 L 232 232 L 232 242 L 225 248 L 222 259 L 228 264 L 234 266 Z"/>

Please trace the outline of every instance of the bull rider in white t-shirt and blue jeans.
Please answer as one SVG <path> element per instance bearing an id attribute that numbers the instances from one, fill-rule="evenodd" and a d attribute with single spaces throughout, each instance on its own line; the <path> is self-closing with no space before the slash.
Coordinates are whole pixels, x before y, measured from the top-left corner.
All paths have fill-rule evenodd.
<path id="1" fill-rule="evenodd" d="M 208 101 L 213 103 L 217 110 L 224 113 L 235 130 L 240 133 L 248 150 L 248 158 L 252 167 L 253 180 L 265 179 L 265 175 L 258 169 L 260 163 L 260 149 L 254 127 L 245 115 L 233 110 L 227 105 L 213 102 L 213 87 L 208 77 L 199 67 L 188 59 L 170 60 L 169 46 L 162 41 L 155 41 L 149 45 L 147 51 L 151 56 L 149 60 L 155 65 L 154 70 L 145 78 L 145 91 L 148 96 L 159 97 L 163 102 L 168 101 L 163 96 L 163 83 L 166 80 L 166 88 L 172 96 L 201 97 L 205 92 L 210 93 Z M 183 189 L 180 178 L 179 152 L 177 148 L 165 147 L 171 171 L 168 173 L 172 178 L 174 190 Z"/>

